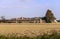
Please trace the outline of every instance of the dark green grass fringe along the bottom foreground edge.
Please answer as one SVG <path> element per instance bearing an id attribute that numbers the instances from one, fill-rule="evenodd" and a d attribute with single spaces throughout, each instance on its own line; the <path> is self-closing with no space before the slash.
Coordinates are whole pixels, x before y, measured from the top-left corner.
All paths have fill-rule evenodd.
<path id="1" fill-rule="evenodd" d="M 32 35 L 31 35 L 32 36 Z M 54 30 L 51 34 L 43 33 L 36 36 L 18 36 L 16 33 L 8 34 L 8 35 L 0 35 L 0 39 L 60 39 L 60 32 Z"/>

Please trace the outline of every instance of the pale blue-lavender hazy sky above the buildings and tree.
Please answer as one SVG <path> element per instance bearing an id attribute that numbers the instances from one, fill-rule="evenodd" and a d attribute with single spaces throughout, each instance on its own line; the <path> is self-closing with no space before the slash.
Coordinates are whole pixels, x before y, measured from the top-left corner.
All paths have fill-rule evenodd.
<path id="1" fill-rule="evenodd" d="M 47 9 L 60 19 L 60 0 L 0 0 L 0 16 L 43 17 Z"/>

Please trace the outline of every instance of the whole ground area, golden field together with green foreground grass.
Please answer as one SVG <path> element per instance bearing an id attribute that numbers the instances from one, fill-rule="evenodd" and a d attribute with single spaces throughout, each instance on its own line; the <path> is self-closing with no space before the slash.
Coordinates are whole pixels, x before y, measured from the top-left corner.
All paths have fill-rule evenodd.
<path id="1" fill-rule="evenodd" d="M 60 23 L 1 23 L 0 39 L 60 39 Z"/>

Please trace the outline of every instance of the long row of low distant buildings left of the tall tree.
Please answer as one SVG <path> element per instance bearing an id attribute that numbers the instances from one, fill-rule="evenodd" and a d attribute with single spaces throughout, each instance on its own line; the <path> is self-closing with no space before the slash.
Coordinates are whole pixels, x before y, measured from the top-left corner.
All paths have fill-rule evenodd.
<path id="1" fill-rule="evenodd" d="M 42 17 L 0 19 L 0 23 L 45 23 Z"/>

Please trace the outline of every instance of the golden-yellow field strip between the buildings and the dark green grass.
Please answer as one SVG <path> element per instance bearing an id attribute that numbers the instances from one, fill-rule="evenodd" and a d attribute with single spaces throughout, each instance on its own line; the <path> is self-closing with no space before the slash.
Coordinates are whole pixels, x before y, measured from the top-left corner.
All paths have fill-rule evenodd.
<path id="1" fill-rule="evenodd" d="M 40 34 L 45 31 L 60 30 L 60 23 L 1 23 L 0 33 L 19 33 L 21 35 L 29 33 Z"/>

